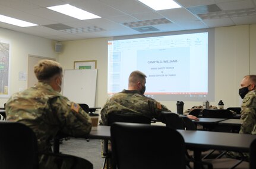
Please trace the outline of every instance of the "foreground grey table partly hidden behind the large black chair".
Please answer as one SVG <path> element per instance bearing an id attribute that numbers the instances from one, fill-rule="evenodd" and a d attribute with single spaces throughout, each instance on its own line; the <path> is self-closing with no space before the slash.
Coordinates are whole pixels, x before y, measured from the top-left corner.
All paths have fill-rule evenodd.
<path id="1" fill-rule="evenodd" d="M 194 163 L 194 168 L 200 168 L 201 151 L 213 149 L 249 152 L 251 142 L 256 139 L 256 135 L 249 134 L 185 131 L 180 129 L 177 131 L 184 138 L 186 147 L 194 150 L 195 161 L 198 161 L 198 163 Z M 87 137 L 110 139 L 110 126 L 98 126 L 97 130 L 91 131 Z"/>

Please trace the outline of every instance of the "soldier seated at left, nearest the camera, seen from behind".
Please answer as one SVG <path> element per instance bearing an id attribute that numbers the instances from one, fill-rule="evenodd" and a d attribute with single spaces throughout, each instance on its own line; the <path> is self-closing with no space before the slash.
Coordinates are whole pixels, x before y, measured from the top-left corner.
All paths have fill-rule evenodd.
<path id="1" fill-rule="evenodd" d="M 49 140 L 58 132 L 83 137 L 91 131 L 90 116 L 74 102 L 61 95 L 62 67 L 52 60 L 34 66 L 39 82 L 11 96 L 6 104 L 7 120 L 21 122 L 36 134 L 39 168 L 92 168 L 83 158 L 52 154 Z"/>

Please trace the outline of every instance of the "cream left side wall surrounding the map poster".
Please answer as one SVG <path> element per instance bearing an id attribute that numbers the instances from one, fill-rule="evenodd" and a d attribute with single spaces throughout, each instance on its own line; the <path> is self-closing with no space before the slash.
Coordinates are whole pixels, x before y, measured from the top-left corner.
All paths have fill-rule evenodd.
<path id="1" fill-rule="evenodd" d="M 55 42 L 33 35 L 23 34 L 0 28 L 0 40 L 6 40 L 11 45 L 11 94 L 27 88 L 27 81 L 18 80 L 18 73 L 27 73 L 29 54 L 41 57 L 58 58 L 54 52 Z M 8 98 L 0 98 L 0 107 L 4 106 Z"/>

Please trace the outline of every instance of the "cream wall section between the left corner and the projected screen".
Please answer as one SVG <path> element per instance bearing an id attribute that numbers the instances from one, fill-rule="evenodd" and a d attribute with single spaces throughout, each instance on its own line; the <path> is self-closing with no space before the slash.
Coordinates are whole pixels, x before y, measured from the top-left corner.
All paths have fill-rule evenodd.
<path id="1" fill-rule="evenodd" d="M 96 107 L 102 107 L 108 97 L 108 40 L 111 39 L 94 38 L 62 42 L 64 49 L 59 54 L 59 63 L 62 64 L 64 69 L 73 69 L 74 61 L 97 60 Z"/>

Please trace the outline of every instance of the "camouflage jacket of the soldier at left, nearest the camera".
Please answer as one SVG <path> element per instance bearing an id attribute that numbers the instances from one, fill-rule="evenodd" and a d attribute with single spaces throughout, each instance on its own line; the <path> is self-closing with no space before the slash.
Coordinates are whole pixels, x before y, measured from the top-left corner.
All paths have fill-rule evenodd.
<path id="1" fill-rule="evenodd" d="M 8 121 L 21 122 L 36 133 L 39 152 L 51 152 L 49 139 L 61 131 L 75 137 L 89 134 L 90 116 L 46 83 L 15 93 L 6 104 Z"/>

